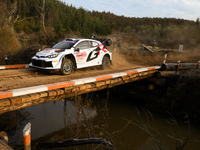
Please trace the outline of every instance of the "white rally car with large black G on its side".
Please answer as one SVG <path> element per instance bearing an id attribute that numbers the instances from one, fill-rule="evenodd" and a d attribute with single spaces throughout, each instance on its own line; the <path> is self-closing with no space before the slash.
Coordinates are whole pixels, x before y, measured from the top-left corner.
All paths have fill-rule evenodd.
<path id="1" fill-rule="evenodd" d="M 104 43 L 104 44 L 102 44 Z M 66 39 L 36 53 L 32 57 L 30 67 L 49 71 L 61 71 L 62 74 L 71 74 L 73 69 L 101 65 L 109 68 L 112 60 L 105 46 L 110 46 L 110 39 Z"/>

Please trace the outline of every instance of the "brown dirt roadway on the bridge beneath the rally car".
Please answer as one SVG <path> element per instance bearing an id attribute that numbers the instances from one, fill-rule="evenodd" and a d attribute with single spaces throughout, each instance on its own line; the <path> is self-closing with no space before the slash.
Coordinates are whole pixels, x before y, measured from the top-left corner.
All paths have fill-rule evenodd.
<path id="1" fill-rule="evenodd" d="M 85 68 L 75 70 L 72 74 L 66 76 L 61 75 L 60 72 L 46 72 L 33 68 L 0 70 L 0 91 L 116 73 L 148 66 L 128 63 L 124 58 L 116 54 L 113 55 L 113 58 L 113 65 L 110 69 L 101 70 L 100 67 Z"/>

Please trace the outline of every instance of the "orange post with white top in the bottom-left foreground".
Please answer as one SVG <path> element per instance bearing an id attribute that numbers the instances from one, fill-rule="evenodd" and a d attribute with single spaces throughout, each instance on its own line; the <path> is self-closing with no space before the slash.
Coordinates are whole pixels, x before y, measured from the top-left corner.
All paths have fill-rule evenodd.
<path id="1" fill-rule="evenodd" d="M 23 129 L 24 150 L 31 150 L 31 123 L 29 122 Z"/>

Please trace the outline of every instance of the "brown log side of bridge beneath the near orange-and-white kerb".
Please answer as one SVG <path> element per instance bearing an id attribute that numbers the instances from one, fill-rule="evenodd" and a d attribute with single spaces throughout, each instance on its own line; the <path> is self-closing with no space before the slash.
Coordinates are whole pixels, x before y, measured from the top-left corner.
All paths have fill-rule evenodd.
<path id="1" fill-rule="evenodd" d="M 158 72 L 158 70 L 150 70 L 147 72 L 130 74 L 113 79 L 105 78 L 105 80 L 103 81 L 96 81 L 92 83 L 86 83 L 83 85 L 68 86 L 65 88 L 61 87 L 59 89 L 52 89 L 44 92 L 37 92 L 33 94 L 4 98 L 0 100 L 0 114 L 37 104 L 57 101 L 63 98 L 69 98 L 89 92 L 99 91 L 106 88 L 112 88 L 114 86 L 118 86 L 128 82 L 148 78 L 150 76 L 153 76 L 155 72 Z"/>

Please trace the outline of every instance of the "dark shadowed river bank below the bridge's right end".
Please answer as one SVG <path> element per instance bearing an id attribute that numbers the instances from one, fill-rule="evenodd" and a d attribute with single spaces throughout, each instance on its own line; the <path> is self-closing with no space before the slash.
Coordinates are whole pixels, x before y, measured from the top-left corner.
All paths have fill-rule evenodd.
<path id="1" fill-rule="evenodd" d="M 200 122 L 200 70 L 166 71 L 115 87 L 111 92 L 142 107 Z"/>

